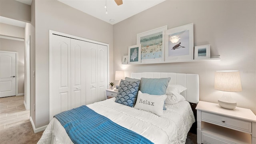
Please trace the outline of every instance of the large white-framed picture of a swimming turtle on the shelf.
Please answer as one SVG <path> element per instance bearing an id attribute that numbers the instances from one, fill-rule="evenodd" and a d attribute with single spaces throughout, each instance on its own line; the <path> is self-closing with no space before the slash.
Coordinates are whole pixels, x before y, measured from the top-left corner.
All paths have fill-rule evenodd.
<path id="1" fill-rule="evenodd" d="M 193 60 L 194 30 L 193 23 L 171 28 L 166 31 L 165 61 Z"/>

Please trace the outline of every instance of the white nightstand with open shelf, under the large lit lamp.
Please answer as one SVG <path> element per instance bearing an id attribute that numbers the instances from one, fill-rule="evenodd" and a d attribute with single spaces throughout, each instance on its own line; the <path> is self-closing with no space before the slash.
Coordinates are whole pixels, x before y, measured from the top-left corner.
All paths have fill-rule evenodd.
<path id="1" fill-rule="evenodd" d="M 198 144 L 256 144 L 256 116 L 250 109 L 199 101 L 196 110 Z"/>

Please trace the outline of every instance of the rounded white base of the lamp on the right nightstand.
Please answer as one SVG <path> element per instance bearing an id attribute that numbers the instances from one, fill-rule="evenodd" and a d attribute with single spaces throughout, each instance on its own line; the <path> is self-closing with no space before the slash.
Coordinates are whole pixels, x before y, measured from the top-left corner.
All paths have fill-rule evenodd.
<path id="1" fill-rule="evenodd" d="M 222 107 L 222 108 L 226 108 L 226 109 L 234 109 L 236 108 L 236 101 L 233 100 L 231 98 L 231 96 L 225 96 L 223 95 L 219 100 L 218 100 L 218 104 Z"/>

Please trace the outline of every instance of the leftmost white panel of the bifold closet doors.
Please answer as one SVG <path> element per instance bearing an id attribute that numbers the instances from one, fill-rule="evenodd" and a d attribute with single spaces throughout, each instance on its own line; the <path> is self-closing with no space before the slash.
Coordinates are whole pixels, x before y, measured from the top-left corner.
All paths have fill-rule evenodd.
<path id="1" fill-rule="evenodd" d="M 52 34 L 50 48 L 50 120 L 71 109 L 70 38 Z"/>

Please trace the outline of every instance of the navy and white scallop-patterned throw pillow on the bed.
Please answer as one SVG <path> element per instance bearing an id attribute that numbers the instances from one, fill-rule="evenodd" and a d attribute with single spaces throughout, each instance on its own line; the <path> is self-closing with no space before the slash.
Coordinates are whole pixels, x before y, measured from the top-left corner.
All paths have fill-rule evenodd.
<path id="1" fill-rule="evenodd" d="M 134 107 L 139 87 L 140 81 L 129 82 L 127 80 L 121 80 L 116 96 L 116 102 L 126 106 Z"/>

